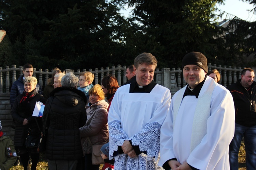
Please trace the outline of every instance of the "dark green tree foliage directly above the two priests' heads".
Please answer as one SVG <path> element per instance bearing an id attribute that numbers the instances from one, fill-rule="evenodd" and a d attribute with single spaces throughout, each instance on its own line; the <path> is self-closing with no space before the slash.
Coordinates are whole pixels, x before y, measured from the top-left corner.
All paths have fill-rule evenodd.
<path id="1" fill-rule="evenodd" d="M 157 56 L 159 67 L 180 66 L 183 56 L 191 51 L 204 53 L 209 62 L 224 62 L 215 57 L 220 53 L 216 49 L 222 39 L 214 37 L 222 30 L 214 23 L 216 16 L 213 14 L 215 4 L 222 3 L 222 0 L 127 2 L 134 7 L 133 19 L 141 24 L 134 33 L 136 38 L 126 37 L 126 45 L 136 44 L 137 53 L 151 52 Z"/>

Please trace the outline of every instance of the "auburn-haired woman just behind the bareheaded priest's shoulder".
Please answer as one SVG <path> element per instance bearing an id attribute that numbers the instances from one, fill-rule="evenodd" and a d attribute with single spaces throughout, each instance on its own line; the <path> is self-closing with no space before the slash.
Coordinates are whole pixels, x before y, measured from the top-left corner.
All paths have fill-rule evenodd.
<path id="1" fill-rule="evenodd" d="M 119 85 L 118 85 L 118 82 L 115 77 L 108 75 L 108 76 L 103 77 L 103 79 L 101 80 L 101 86 L 102 86 L 102 90 L 106 96 L 106 99 L 109 102 L 109 107 L 108 107 L 108 112 L 109 112 L 109 108 L 110 108 L 112 99 L 113 99 L 114 94 L 115 94 L 116 90 L 118 89 Z"/>

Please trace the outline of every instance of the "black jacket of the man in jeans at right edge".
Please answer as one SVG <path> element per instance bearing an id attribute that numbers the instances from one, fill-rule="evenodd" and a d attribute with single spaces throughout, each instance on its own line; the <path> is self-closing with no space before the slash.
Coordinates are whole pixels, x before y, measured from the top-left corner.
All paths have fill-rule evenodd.
<path id="1" fill-rule="evenodd" d="M 256 82 L 252 83 L 251 95 L 249 95 L 240 81 L 241 79 L 227 87 L 234 100 L 235 122 L 243 126 L 252 127 L 256 125 Z"/>

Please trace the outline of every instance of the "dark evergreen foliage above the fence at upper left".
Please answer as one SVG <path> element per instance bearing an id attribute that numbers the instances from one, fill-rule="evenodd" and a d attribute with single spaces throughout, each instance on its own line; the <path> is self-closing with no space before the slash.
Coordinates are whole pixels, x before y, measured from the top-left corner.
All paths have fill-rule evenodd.
<path id="1" fill-rule="evenodd" d="M 0 28 L 19 45 L 12 56 L 37 68 L 102 67 L 119 54 L 119 1 L 1 0 Z M 17 46 L 16 46 L 17 47 Z M 120 50 L 122 51 L 122 50 Z M 4 54 L 1 54 L 4 55 Z"/>

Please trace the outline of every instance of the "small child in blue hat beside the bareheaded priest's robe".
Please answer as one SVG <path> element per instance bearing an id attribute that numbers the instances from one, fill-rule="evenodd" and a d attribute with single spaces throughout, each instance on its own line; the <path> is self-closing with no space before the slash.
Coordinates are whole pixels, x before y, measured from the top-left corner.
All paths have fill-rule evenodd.
<path id="1" fill-rule="evenodd" d="M 104 166 L 101 170 L 114 170 L 115 160 L 109 160 L 109 142 L 101 147 L 101 157 L 104 160 Z"/>

